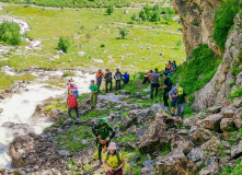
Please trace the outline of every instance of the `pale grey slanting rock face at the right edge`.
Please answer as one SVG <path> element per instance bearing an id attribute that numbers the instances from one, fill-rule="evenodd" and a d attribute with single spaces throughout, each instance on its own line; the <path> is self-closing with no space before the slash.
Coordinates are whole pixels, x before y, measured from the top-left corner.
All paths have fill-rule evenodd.
<path id="1" fill-rule="evenodd" d="M 176 0 L 180 1 L 180 0 Z M 205 0 L 206 1 L 206 0 Z M 215 0 L 214 0 L 215 1 Z M 212 16 L 212 15 L 211 15 Z M 212 19 L 212 18 L 211 18 Z M 231 73 L 232 67 L 240 67 L 238 55 L 242 49 L 242 15 L 237 14 L 234 18 L 234 27 L 230 31 L 226 43 L 226 50 L 222 63 L 214 78 L 195 95 L 193 107 L 196 110 L 201 110 L 216 104 L 220 104 L 224 97 L 231 93 L 229 83 L 237 82 L 237 78 Z M 212 30 L 211 30 L 212 31 Z M 212 47 L 216 48 L 216 47 Z M 238 106 L 240 107 L 240 106 Z"/>

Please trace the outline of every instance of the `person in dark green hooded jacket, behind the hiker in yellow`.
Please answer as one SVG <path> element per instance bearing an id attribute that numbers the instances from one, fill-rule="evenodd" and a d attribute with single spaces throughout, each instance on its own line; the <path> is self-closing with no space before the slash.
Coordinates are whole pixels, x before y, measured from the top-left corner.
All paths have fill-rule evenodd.
<path id="1" fill-rule="evenodd" d="M 108 147 L 111 140 L 115 136 L 115 131 L 110 127 L 105 118 L 101 118 L 96 126 L 92 127 L 92 131 L 96 137 L 96 144 L 99 149 L 100 165 L 102 164 L 102 149 Z"/>

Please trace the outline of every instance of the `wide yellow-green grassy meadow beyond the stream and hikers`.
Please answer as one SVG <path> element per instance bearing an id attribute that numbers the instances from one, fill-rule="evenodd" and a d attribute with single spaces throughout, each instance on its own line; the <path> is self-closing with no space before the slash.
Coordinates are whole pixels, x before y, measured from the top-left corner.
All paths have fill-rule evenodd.
<path id="1" fill-rule="evenodd" d="M 30 67 L 43 69 L 73 68 L 73 67 L 102 67 L 112 70 L 120 65 L 122 70 L 128 72 L 148 71 L 149 69 L 164 68 L 164 62 L 175 59 L 182 63 L 185 59 L 185 50 L 182 45 L 180 50 L 174 50 L 177 40 L 182 39 L 182 33 L 177 33 L 180 24 L 169 22 L 134 22 L 127 25 L 134 12 L 139 10 L 129 9 L 128 14 L 124 14 L 124 9 L 115 9 L 113 15 L 106 15 L 105 10 L 74 9 L 49 10 L 32 7 L 4 7 L 0 15 L 11 15 L 25 20 L 31 25 L 31 31 L 26 35 L 32 39 L 43 39 L 42 50 L 28 50 L 23 57 L 11 55 L 9 61 L 0 61 L 0 65 L 8 63 L 18 70 L 25 70 Z M 102 26 L 101 30 L 97 26 Z M 126 26 L 129 35 L 125 39 L 117 39 L 119 30 L 117 26 Z M 147 27 L 155 26 L 154 30 Z M 55 30 L 54 30 L 55 28 Z M 90 35 L 87 38 L 87 34 Z M 56 55 L 58 38 L 68 37 L 70 48 L 68 54 Z M 105 47 L 100 47 L 104 44 Z M 19 49 L 24 50 L 22 44 Z M 76 47 L 81 45 L 82 47 Z M 162 47 L 164 46 L 164 47 Z M 141 48 L 142 47 L 142 48 Z M 148 49 L 150 47 L 150 49 Z M 79 51 L 84 51 L 85 56 L 80 57 Z M 160 56 L 160 52 L 165 58 Z M 124 57 L 124 59 L 122 59 Z M 142 57 L 145 59 L 142 59 Z M 103 59 L 104 63 L 93 61 Z M 113 58 L 113 59 L 112 59 Z"/>

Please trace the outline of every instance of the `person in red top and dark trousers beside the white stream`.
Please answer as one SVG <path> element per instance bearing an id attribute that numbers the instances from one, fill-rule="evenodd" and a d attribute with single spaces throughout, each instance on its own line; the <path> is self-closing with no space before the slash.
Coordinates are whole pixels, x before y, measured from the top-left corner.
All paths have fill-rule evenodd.
<path id="1" fill-rule="evenodd" d="M 67 105 L 68 107 L 68 116 L 69 119 L 72 119 L 71 117 L 71 110 L 74 109 L 76 114 L 77 114 L 77 118 L 79 118 L 79 114 L 78 114 L 78 101 L 77 101 L 77 96 L 74 95 L 74 90 L 70 90 L 69 92 L 70 94 L 67 97 L 67 103 L 66 103 L 66 107 Z"/>

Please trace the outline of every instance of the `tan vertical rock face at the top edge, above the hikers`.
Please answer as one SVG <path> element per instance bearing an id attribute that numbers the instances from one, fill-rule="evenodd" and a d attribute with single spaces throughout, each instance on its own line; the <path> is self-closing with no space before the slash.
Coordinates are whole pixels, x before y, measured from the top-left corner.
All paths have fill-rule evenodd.
<path id="1" fill-rule="evenodd" d="M 208 46 L 217 54 L 220 50 L 212 39 L 215 26 L 214 13 L 222 0 L 172 0 L 172 5 L 178 13 L 183 25 L 183 43 L 187 56 L 200 44 Z"/>

